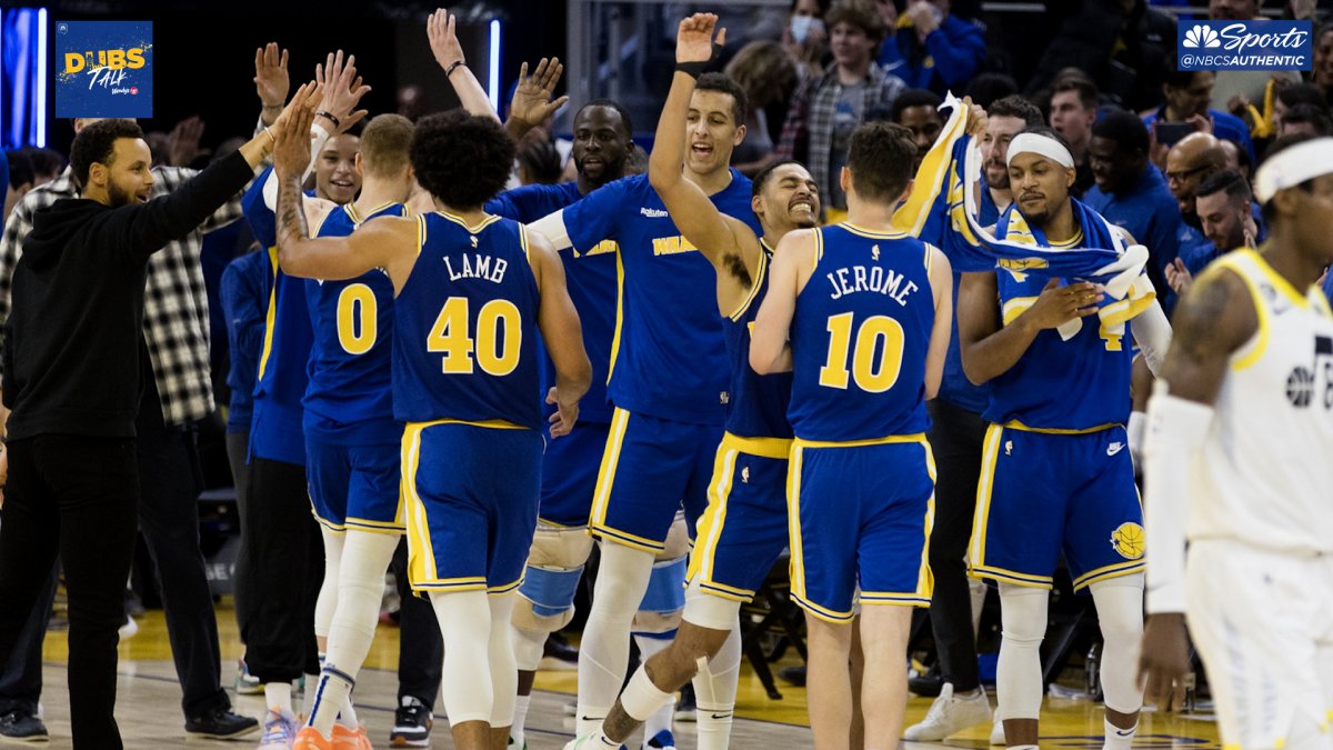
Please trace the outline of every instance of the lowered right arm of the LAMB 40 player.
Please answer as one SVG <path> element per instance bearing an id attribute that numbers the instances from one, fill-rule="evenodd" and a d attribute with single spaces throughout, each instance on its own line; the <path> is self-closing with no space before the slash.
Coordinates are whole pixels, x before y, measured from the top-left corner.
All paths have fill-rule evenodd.
<path id="1" fill-rule="evenodd" d="M 560 438 L 568 435 L 579 419 L 579 399 L 592 386 L 592 363 L 584 350 L 579 311 L 569 299 L 565 268 L 556 250 L 544 236 L 528 232 L 528 256 L 541 294 L 537 327 L 556 366 L 556 384 L 547 394 L 547 403 L 556 406 L 556 414 L 551 415 L 551 436 Z"/>

